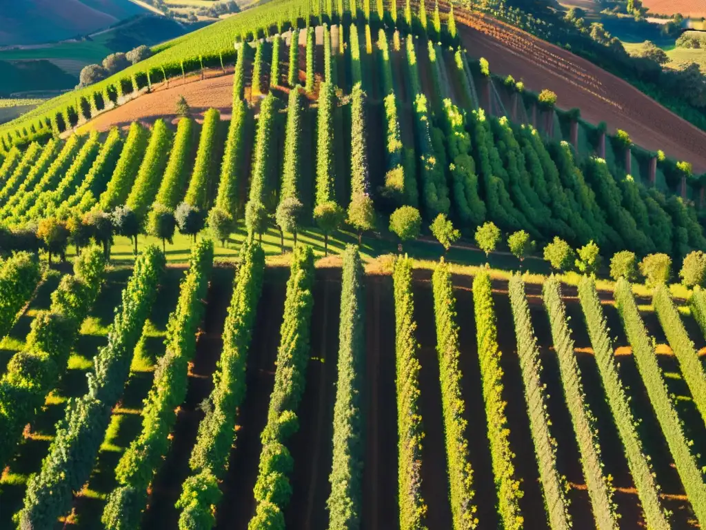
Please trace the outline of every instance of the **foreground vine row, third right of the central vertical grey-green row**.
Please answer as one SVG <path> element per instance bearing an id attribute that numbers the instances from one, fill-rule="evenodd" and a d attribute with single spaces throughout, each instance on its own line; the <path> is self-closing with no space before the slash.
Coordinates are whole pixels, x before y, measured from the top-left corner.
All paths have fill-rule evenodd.
<path id="1" fill-rule="evenodd" d="M 491 281 L 486 271 L 473 278 L 473 304 L 488 439 L 498 493 L 497 511 L 503 528 L 520 530 L 524 523 L 519 505 L 523 492 L 520 481 L 515 478 L 515 454 L 510 449 L 510 428 L 503 401 L 502 353 L 498 347 Z"/>

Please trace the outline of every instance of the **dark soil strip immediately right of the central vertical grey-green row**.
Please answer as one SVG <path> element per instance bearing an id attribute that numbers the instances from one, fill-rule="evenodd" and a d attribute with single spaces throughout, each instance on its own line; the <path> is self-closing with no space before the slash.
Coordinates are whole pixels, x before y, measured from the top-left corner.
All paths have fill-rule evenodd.
<path id="1" fill-rule="evenodd" d="M 395 306 L 390 276 L 366 276 L 366 449 L 363 514 L 366 530 L 400 527 L 397 504 Z"/>

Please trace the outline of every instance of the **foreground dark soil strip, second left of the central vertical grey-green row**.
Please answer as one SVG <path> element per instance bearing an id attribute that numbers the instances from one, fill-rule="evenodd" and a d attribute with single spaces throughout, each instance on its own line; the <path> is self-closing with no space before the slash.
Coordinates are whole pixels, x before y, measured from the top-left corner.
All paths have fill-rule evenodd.
<path id="1" fill-rule="evenodd" d="M 265 269 L 263 292 L 248 353 L 247 390 L 239 409 L 236 447 L 232 449 L 228 471 L 218 505 L 218 529 L 246 530 L 255 512 L 253 487 L 258 474 L 262 444 L 260 433 L 267 423 L 270 394 L 275 384 L 275 359 L 280 343 L 279 329 L 285 311 L 286 276 L 279 278 Z"/>

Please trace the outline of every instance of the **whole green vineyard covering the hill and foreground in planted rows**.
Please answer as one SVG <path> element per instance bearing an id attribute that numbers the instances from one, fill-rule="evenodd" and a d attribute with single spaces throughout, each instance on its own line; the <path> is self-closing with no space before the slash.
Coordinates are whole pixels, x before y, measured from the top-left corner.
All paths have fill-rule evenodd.
<path id="1" fill-rule="evenodd" d="M 3 136 L 0 528 L 706 524 L 703 179 L 459 20 L 275 0 Z"/>

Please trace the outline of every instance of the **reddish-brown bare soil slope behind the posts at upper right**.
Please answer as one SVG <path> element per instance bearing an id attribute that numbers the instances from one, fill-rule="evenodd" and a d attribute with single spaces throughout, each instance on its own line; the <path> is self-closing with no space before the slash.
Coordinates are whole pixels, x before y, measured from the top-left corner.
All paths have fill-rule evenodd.
<path id="1" fill-rule="evenodd" d="M 553 90 L 559 107 L 578 107 L 588 122 L 605 121 L 611 131 L 628 131 L 638 146 L 706 170 L 706 133 L 626 81 L 498 20 L 462 10 L 455 16 L 469 54 L 488 59 L 491 71 L 510 74 L 531 90 Z"/>

